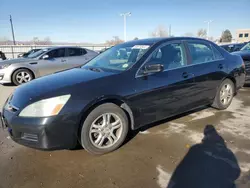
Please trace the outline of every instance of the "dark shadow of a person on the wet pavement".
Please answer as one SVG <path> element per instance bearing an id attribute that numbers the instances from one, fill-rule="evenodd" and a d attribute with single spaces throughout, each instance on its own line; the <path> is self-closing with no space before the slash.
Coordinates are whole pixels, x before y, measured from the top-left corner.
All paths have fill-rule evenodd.
<path id="1" fill-rule="evenodd" d="M 200 144 L 190 148 L 167 188 L 234 188 L 240 167 L 213 125 L 204 129 Z"/>

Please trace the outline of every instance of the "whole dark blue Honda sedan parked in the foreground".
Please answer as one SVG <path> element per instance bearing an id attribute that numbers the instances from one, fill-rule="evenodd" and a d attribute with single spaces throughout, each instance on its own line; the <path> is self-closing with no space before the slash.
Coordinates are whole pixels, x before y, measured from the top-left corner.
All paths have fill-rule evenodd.
<path id="1" fill-rule="evenodd" d="M 2 121 L 17 143 L 93 154 L 117 149 L 128 130 L 211 105 L 226 109 L 245 65 L 198 38 L 154 38 L 114 46 L 82 67 L 18 87 Z"/>

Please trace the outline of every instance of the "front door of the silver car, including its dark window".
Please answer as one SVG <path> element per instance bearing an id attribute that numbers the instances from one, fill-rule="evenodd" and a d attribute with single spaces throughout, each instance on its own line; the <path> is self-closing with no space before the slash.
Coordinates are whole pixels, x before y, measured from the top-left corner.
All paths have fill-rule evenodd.
<path id="1" fill-rule="evenodd" d="M 44 54 L 37 64 L 34 65 L 38 69 L 40 76 L 67 69 L 65 52 L 65 48 L 58 48 Z M 43 59 L 45 55 L 48 55 L 48 57 Z"/>

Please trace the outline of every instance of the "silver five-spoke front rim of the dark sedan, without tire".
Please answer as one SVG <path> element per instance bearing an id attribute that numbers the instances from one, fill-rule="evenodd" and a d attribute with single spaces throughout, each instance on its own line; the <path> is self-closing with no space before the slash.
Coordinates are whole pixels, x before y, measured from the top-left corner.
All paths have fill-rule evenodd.
<path id="1" fill-rule="evenodd" d="M 91 143 L 100 149 L 113 146 L 121 137 L 122 121 L 114 113 L 105 113 L 97 117 L 90 127 Z"/>

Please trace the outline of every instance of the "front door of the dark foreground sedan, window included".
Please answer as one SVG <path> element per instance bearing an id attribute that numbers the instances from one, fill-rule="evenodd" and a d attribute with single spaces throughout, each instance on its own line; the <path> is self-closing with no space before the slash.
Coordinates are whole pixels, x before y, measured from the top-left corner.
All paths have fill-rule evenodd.
<path id="1" fill-rule="evenodd" d="M 193 96 L 195 83 L 186 57 L 181 42 L 166 43 L 139 70 L 137 95 L 130 101 L 139 111 L 136 126 L 182 113 L 190 106 L 189 97 Z M 143 75 L 144 67 L 151 64 L 162 64 L 164 71 Z"/>

